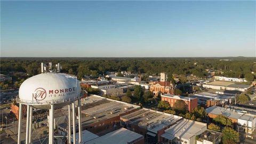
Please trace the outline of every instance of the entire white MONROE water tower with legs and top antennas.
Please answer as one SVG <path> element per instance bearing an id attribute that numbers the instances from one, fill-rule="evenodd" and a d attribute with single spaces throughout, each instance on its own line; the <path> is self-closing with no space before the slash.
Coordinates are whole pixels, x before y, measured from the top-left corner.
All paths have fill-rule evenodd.
<path id="1" fill-rule="evenodd" d="M 22 105 L 27 105 L 27 123 L 26 123 L 26 144 L 31 143 L 31 124 L 33 108 L 49 109 L 49 143 L 54 143 L 54 109 L 68 105 L 68 143 L 71 143 L 71 111 L 73 111 L 73 138 L 75 141 L 75 101 L 78 101 L 78 127 L 79 143 L 82 142 L 81 127 L 81 86 L 76 77 L 61 74 L 60 64 L 56 69 L 52 69 L 52 63 L 49 63 L 49 69 L 44 63 L 41 65 L 42 74 L 33 76 L 24 81 L 19 89 L 19 109 Z M 18 143 L 20 143 L 22 110 L 19 110 Z"/>

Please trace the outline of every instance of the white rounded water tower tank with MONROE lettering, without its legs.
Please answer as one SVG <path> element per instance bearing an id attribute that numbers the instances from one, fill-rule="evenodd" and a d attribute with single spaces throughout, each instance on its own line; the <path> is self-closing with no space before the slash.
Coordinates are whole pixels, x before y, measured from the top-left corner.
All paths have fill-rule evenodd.
<path id="1" fill-rule="evenodd" d="M 60 73 L 43 73 L 28 78 L 19 89 L 18 102 L 38 109 L 68 105 L 82 97 L 81 86 L 76 77 Z"/>

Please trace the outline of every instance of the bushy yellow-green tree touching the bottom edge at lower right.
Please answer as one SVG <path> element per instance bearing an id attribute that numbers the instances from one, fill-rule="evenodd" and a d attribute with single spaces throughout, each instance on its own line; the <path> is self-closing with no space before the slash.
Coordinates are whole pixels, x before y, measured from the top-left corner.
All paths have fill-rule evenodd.
<path id="1" fill-rule="evenodd" d="M 231 127 L 224 127 L 222 130 L 222 142 L 223 144 L 237 143 L 239 142 L 239 133 Z"/>

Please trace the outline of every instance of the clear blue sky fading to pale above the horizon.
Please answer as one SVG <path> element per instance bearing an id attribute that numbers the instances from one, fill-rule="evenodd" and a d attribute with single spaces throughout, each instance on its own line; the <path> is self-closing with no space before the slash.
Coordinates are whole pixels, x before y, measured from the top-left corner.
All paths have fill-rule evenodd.
<path id="1" fill-rule="evenodd" d="M 1 57 L 255 57 L 255 1 L 1 1 Z"/>

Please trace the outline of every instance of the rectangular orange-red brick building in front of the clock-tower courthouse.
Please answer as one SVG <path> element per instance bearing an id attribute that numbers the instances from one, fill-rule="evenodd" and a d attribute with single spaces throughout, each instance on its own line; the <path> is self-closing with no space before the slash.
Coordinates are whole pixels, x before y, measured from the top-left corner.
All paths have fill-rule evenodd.
<path id="1" fill-rule="evenodd" d="M 171 107 L 173 107 L 174 103 L 177 100 L 183 100 L 186 103 L 187 110 L 189 112 L 191 112 L 195 107 L 197 107 L 197 98 L 189 98 L 189 97 L 183 97 L 183 96 L 173 95 L 173 94 L 162 94 L 161 100 L 168 101 Z"/>

